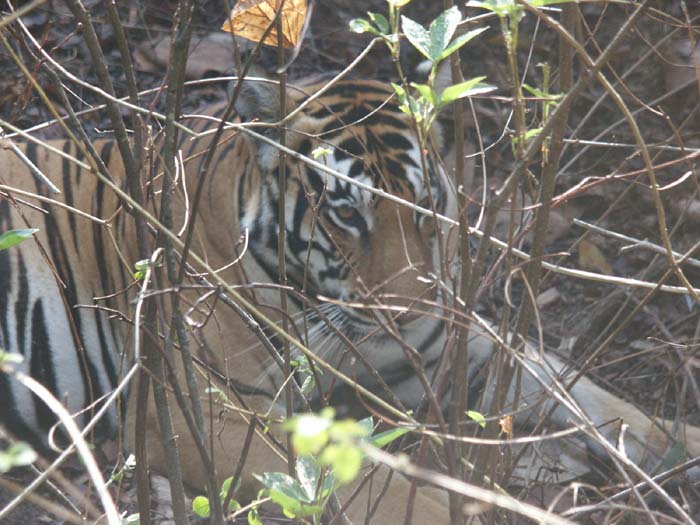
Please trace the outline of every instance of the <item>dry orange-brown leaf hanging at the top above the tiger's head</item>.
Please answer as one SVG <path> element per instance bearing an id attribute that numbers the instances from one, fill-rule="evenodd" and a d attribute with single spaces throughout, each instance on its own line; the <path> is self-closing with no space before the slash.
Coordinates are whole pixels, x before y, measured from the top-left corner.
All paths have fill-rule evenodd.
<path id="1" fill-rule="evenodd" d="M 275 20 L 282 0 L 239 0 L 229 19 L 221 27 L 224 31 L 260 42 L 267 28 Z M 284 0 L 282 6 L 282 45 L 293 48 L 299 43 L 306 19 L 306 0 Z M 263 44 L 277 46 L 277 28 L 273 27 Z"/>

